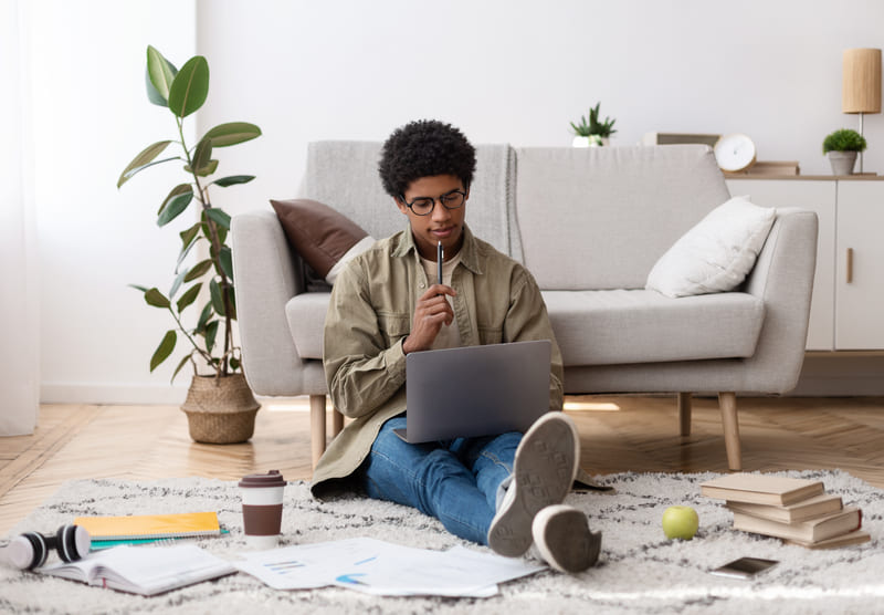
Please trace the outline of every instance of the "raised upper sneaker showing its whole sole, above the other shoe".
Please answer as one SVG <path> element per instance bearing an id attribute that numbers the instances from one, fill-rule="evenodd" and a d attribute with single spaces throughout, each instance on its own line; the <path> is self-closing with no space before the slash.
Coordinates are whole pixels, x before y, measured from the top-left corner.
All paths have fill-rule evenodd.
<path id="1" fill-rule="evenodd" d="M 530 548 L 534 517 L 565 500 L 579 459 L 580 437 L 569 416 L 551 411 L 532 425 L 516 449 L 513 483 L 488 530 L 495 553 L 517 557 Z"/>

